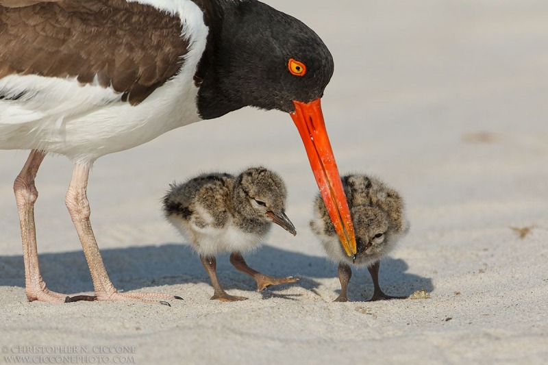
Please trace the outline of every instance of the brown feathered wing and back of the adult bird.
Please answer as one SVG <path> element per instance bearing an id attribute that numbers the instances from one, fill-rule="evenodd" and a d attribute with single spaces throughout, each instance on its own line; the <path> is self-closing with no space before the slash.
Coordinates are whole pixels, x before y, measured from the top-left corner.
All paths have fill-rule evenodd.
<path id="1" fill-rule="evenodd" d="M 182 25 L 149 5 L 124 0 L 2 1 L 0 78 L 13 73 L 77 77 L 112 85 L 136 104 L 183 64 Z M 9 6 L 9 5 L 8 5 Z"/>

